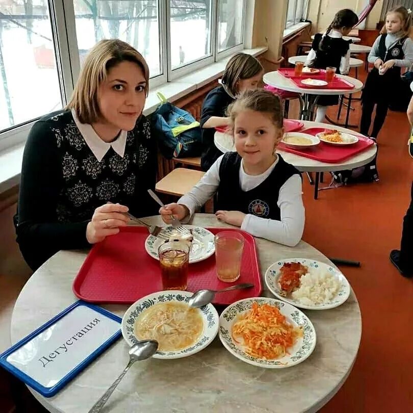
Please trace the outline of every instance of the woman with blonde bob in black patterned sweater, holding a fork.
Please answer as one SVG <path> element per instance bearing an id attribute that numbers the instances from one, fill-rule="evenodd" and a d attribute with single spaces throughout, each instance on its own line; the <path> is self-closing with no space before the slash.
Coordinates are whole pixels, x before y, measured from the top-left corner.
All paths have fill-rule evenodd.
<path id="1" fill-rule="evenodd" d="M 156 213 L 147 194 L 156 182 L 156 146 L 142 115 L 148 80 L 137 50 L 102 40 L 66 108 L 33 125 L 15 216 L 17 242 L 33 270 L 61 249 L 117 234 L 128 210 Z"/>

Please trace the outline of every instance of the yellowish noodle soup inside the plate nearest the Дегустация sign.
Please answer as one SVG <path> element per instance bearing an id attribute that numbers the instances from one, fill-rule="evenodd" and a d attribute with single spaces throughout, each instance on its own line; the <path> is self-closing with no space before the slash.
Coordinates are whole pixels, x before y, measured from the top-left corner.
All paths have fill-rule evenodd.
<path id="1" fill-rule="evenodd" d="M 178 351 L 194 345 L 204 328 L 198 308 L 176 301 L 154 304 L 135 322 L 139 340 L 157 340 L 160 351 Z"/>

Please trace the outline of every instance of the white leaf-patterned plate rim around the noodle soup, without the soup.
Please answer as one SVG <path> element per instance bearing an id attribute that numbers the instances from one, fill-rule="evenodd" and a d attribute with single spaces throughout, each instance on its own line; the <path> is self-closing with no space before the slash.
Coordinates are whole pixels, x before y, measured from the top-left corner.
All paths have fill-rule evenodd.
<path id="1" fill-rule="evenodd" d="M 126 343 L 130 346 L 136 344 L 139 339 L 135 335 L 135 321 L 141 313 L 152 305 L 167 302 L 188 302 L 193 293 L 188 291 L 159 291 L 157 293 L 149 294 L 142 297 L 140 300 L 132 304 L 124 314 L 122 318 L 122 335 Z M 201 308 L 197 308 L 203 319 L 203 331 L 199 336 L 199 339 L 192 346 L 184 348 L 178 351 L 157 351 L 153 358 L 182 358 L 191 354 L 195 354 L 207 347 L 215 339 L 218 333 L 219 317 L 215 307 L 212 304 L 204 305 Z"/>

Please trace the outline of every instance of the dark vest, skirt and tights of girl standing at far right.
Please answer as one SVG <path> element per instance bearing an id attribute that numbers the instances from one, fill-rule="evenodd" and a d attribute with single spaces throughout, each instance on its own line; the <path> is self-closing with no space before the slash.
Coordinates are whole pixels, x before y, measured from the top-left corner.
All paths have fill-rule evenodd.
<path id="1" fill-rule="evenodd" d="M 382 34 L 379 40 L 379 57 L 383 62 L 392 59 L 404 59 L 403 43 L 406 37 L 401 38 L 396 44 L 386 49 L 386 36 Z M 374 67 L 367 76 L 366 84 L 363 89 L 362 103 L 363 112 L 360 121 L 360 132 L 369 136 L 371 116 L 374 105 L 377 104 L 376 116 L 373 124 L 372 138 L 377 138 L 381 127 L 383 126 L 389 104 L 397 97 L 397 91 L 400 90 L 401 68 L 393 66 L 384 74 L 379 74 L 378 69 Z"/>

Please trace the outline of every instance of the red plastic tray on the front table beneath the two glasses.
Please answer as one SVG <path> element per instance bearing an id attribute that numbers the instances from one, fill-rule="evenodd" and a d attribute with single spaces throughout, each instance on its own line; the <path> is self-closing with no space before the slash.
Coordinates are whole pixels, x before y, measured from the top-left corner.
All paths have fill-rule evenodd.
<path id="1" fill-rule="evenodd" d="M 254 237 L 240 229 L 208 229 L 213 234 L 228 230 L 238 231 L 244 236 L 241 276 L 234 283 L 220 281 L 213 255 L 189 266 L 188 291 L 219 290 L 240 282 L 252 282 L 252 288 L 217 294 L 213 303 L 228 305 L 243 298 L 259 296 L 262 282 Z M 145 250 L 147 236 L 146 228 L 128 226 L 93 246 L 73 281 L 74 294 L 88 302 L 129 304 L 162 291 L 159 262 Z"/>

